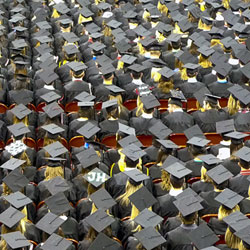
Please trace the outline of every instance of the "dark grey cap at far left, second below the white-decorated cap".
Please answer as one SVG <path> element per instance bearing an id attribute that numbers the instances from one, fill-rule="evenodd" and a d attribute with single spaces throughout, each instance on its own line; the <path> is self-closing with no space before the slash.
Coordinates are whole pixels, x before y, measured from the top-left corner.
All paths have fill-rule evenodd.
<path id="1" fill-rule="evenodd" d="M 29 180 L 20 172 L 20 169 L 15 169 L 11 171 L 5 178 L 3 182 L 13 191 L 20 191 L 26 185 L 29 184 Z"/>

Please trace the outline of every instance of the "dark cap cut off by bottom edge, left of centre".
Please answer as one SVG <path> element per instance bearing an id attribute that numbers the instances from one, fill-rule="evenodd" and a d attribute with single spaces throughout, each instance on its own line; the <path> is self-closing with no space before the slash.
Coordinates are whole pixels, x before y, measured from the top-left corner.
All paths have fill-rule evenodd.
<path id="1" fill-rule="evenodd" d="M 96 250 L 96 249 L 111 249 L 111 250 L 120 250 L 121 245 L 106 236 L 104 233 L 99 233 L 95 240 L 91 243 L 88 250 Z"/>

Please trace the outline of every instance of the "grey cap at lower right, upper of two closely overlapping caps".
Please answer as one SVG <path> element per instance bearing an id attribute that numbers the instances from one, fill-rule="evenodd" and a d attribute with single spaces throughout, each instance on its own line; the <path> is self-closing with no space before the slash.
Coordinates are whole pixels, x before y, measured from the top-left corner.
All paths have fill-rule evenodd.
<path id="1" fill-rule="evenodd" d="M 199 200 L 193 195 L 182 197 L 173 203 L 183 216 L 190 215 L 203 209 L 203 206 L 200 204 Z"/>

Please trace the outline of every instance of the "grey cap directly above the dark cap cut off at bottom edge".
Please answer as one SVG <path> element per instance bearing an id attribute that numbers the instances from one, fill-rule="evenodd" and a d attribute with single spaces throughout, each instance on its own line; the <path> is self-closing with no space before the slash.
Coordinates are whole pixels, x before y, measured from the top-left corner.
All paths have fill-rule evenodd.
<path id="1" fill-rule="evenodd" d="M 98 233 L 115 222 L 115 219 L 108 215 L 103 209 L 98 209 L 95 213 L 85 218 L 85 221 Z"/>

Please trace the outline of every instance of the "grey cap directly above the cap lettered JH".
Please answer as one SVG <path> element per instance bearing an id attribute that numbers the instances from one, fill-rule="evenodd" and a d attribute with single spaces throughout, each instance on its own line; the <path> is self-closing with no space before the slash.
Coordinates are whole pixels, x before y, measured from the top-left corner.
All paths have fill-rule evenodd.
<path id="1" fill-rule="evenodd" d="M 84 150 L 76 154 L 76 157 L 82 164 L 83 168 L 88 168 L 101 160 L 94 148 Z"/>

